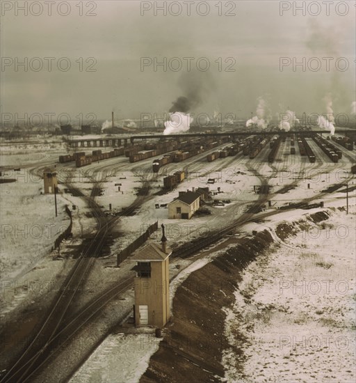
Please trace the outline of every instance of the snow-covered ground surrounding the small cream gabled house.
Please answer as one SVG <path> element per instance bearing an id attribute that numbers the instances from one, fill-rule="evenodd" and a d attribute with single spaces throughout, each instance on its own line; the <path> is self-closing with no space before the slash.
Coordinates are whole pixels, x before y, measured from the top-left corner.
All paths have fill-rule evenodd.
<path id="1" fill-rule="evenodd" d="M 204 166 L 204 169 L 201 169 L 202 166 Z M 124 217 L 121 224 L 122 230 L 127 235 L 136 233 L 137 236 L 143 233 L 147 226 L 158 220 L 160 224 L 165 224 L 170 241 L 177 246 L 196 237 L 222 230 L 246 210 L 249 203 L 259 197 L 254 193 L 253 185 L 260 185 L 261 182 L 243 164 L 224 168 L 224 162 L 221 160 L 220 163 L 217 161 L 207 162 L 196 167 L 200 169 L 194 171 L 193 166 L 191 166 L 188 178 L 177 185 L 175 189 L 162 196 L 151 196 L 149 201 L 143 203 L 140 207 L 138 214 L 132 217 Z M 169 173 L 171 172 L 169 171 Z M 208 178 L 216 178 L 216 183 L 209 184 L 207 182 Z M 156 182 L 151 182 L 152 193 L 159 191 L 159 185 L 163 185 L 163 175 L 159 175 Z M 173 199 L 177 198 L 179 192 L 186 192 L 188 189 L 192 190 L 198 187 L 209 187 L 211 192 L 216 193 L 213 196 L 214 199 L 230 200 L 230 203 L 216 207 L 209 205 L 211 215 L 195 215 L 189 221 L 168 219 L 167 208 L 156 208 L 156 204 L 164 205 L 173 201 Z M 218 192 L 218 188 L 220 192 Z"/>

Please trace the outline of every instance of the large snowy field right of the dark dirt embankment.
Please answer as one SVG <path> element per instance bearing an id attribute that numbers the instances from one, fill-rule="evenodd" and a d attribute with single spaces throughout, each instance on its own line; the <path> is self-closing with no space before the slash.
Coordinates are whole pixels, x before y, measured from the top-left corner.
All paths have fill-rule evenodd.
<path id="1" fill-rule="evenodd" d="M 245 269 L 225 308 L 229 343 L 244 352 L 225 350 L 228 382 L 355 382 L 355 205 L 321 224 L 308 214 L 280 214 L 298 233 Z"/>

